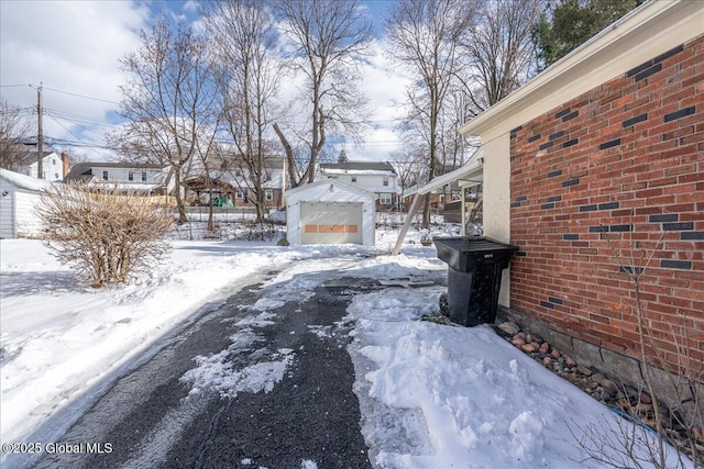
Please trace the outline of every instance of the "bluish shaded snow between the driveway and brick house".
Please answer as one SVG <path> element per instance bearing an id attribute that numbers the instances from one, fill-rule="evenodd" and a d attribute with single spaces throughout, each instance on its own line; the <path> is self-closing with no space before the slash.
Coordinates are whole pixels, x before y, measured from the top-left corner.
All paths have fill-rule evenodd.
<path id="1" fill-rule="evenodd" d="M 441 288 L 358 295 L 350 355 L 377 468 L 584 468 L 583 431 L 618 435 L 609 411 L 498 337 L 418 321 Z"/>

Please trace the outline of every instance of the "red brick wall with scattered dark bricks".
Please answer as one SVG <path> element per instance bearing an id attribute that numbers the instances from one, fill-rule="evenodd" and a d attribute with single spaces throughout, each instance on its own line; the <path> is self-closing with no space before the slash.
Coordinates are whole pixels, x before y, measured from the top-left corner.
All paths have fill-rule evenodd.
<path id="1" fill-rule="evenodd" d="M 704 36 L 512 131 L 512 309 L 637 355 L 628 257 L 656 344 L 704 359 Z M 609 245 L 610 242 L 610 245 Z M 681 335 L 681 331 L 680 331 Z"/>

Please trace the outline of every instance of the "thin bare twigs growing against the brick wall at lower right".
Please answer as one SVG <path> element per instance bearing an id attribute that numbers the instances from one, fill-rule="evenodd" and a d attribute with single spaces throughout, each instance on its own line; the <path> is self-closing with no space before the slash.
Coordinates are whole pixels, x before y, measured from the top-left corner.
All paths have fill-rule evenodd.
<path id="1" fill-rule="evenodd" d="M 614 257 L 619 264 L 625 265 L 626 268 L 622 271 L 628 275 L 632 284 L 639 342 L 638 358 L 641 362 L 645 389 L 652 397 L 652 418 L 647 421 L 648 426 L 638 425 L 639 422 L 636 422 L 637 425 L 630 425 L 625 420 L 617 418 L 618 429 L 613 434 L 605 433 L 602 428 L 580 428 L 584 436 L 578 438 L 579 445 L 590 459 L 615 468 L 672 469 L 690 467 L 690 464 L 694 468 L 704 467 L 704 460 L 697 449 L 697 442 L 700 445 L 704 443 L 698 439 L 704 422 L 704 366 L 692 356 L 688 330 L 690 319 L 686 313 L 682 313 L 679 325 L 670 324 L 676 357 L 676 364 L 673 365 L 656 346 L 656 337 L 646 316 L 641 297 L 641 280 L 661 246 L 664 233 L 660 235 L 650 253 L 646 249 L 637 250 L 630 239 L 626 255 L 619 255 L 612 239 L 606 235 L 604 237 Z M 649 355 L 649 351 L 652 355 Z M 664 383 L 657 382 L 656 368 L 664 371 Z M 669 395 L 661 407 L 657 397 L 662 397 L 663 393 Z M 640 403 L 638 398 L 638 404 Z M 674 434 L 673 426 L 681 429 L 680 438 Z M 682 444 L 682 437 L 686 442 L 685 445 Z"/>

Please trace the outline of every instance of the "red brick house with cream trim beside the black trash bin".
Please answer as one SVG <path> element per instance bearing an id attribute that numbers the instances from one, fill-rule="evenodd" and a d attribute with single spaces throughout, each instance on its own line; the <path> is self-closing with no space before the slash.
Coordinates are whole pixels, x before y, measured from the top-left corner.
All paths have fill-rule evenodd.
<path id="1" fill-rule="evenodd" d="M 482 142 L 484 234 L 521 248 L 504 314 L 626 382 L 641 249 L 649 356 L 676 367 L 686 333 L 704 360 L 703 24 L 702 2 L 647 2 L 460 130 Z"/>

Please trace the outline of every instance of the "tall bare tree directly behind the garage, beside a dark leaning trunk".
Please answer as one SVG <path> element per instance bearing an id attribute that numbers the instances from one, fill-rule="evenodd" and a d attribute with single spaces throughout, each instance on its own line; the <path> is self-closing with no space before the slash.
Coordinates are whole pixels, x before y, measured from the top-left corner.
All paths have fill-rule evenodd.
<path id="1" fill-rule="evenodd" d="M 296 187 L 312 182 L 331 133 L 354 138 L 363 127 L 366 99 L 358 87 L 356 65 L 372 37 L 372 23 L 356 0 L 280 0 L 276 5 L 292 67 L 305 80 L 299 103 L 308 115 L 306 129 L 290 130 L 307 150 L 302 175 L 297 171 L 297 145 L 274 125 L 286 150 L 290 186 Z"/>

